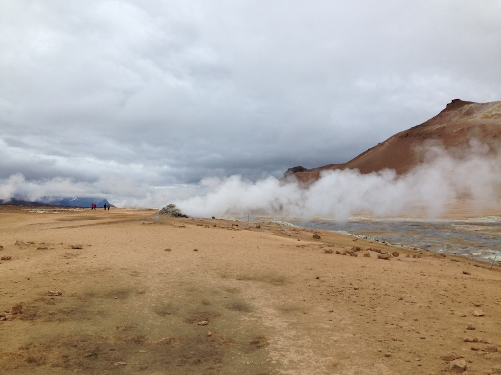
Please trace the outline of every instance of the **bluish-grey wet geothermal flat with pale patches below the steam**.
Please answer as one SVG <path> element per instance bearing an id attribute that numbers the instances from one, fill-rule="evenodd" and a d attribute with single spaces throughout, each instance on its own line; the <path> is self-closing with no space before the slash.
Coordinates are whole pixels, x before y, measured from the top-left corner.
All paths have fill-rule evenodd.
<path id="1" fill-rule="evenodd" d="M 389 219 L 352 217 L 345 223 L 334 220 L 288 220 L 312 229 L 345 231 L 393 245 L 464 255 L 481 260 L 501 260 L 501 217 L 465 220 Z"/>

